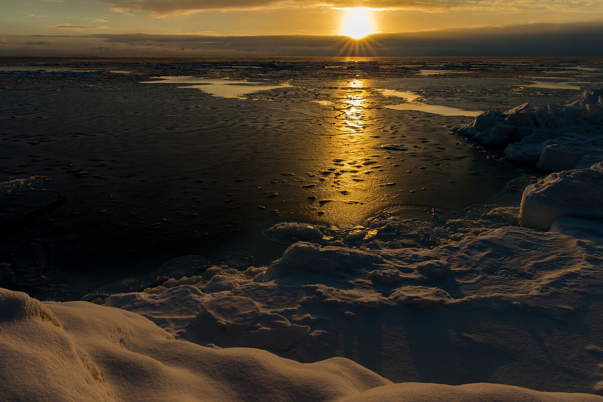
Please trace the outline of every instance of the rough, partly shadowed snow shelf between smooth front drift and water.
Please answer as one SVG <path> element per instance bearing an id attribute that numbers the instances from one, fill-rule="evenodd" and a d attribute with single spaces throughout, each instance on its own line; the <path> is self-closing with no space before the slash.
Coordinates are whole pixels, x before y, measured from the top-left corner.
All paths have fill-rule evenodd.
<path id="1" fill-rule="evenodd" d="M 504 227 L 432 250 L 298 242 L 223 292 L 182 285 L 106 304 L 197 344 L 349 357 L 395 382 L 600 393 L 603 243 L 581 230 Z"/>

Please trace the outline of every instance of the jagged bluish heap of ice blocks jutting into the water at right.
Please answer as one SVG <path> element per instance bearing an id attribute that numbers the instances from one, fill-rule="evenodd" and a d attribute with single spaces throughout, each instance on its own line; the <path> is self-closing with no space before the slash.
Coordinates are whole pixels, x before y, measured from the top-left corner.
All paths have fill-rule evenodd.
<path id="1" fill-rule="evenodd" d="M 588 89 L 565 105 L 535 108 L 528 102 L 507 111 L 487 111 L 452 132 L 505 146 L 510 160 L 558 172 L 575 168 L 585 156 L 590 165 L 603 160 L 602 123 L 603 87 Z"/>

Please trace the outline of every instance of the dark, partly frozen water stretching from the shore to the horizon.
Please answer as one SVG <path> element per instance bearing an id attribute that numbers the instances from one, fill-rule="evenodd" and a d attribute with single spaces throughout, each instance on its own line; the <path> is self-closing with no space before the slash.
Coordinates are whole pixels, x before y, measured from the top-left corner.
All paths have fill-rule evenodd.
<path id="1" fill-rule="evenodd" d="M 267 265 L 308 226 L 388 247 L 392 216 L 416 234 L 398 246 L 434 247 L 541 175 L 449 127 L 602 79 L 599 59 L 1 58 L 0 184 L 29 190 L 0 199 L 0 287 L 136 291 L 180 256 Z"/>

